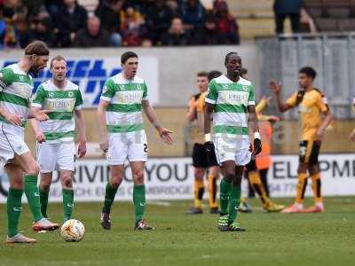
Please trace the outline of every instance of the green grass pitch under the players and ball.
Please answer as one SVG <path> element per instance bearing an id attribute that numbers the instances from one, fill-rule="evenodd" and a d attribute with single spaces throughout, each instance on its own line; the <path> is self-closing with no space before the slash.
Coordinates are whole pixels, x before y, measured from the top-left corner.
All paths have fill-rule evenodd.
<path id="1" fill-rule="evenodd" d="M 276 200 L 289 203 L 290 200 Z M 307 200 L 308 205 L 311 200 Z M 28 206 L 20 229 L 36 245 L 0 244 L 0 265 L 355 265 L 355 198 L 327 198 L 323 214 L 266 214 L 258 200 L 255 210 L 241 214 L 246 232 L 217 231 L 217 215 L 185 215 L 190 201 L 150 204 L 146 219 L 155 231 L 133 231 L 133 206 L 115 202 L 113 228 L 99 224 L 99 203 L 77 203 L 74 218 L 86 227 L 82 242 L 67 243 L 59 231 L 30 230 Z M 5 239 L 5 206 L 0 221 Z M 53 221 L 62 219 L 60 204 L 50 204 Z"/>

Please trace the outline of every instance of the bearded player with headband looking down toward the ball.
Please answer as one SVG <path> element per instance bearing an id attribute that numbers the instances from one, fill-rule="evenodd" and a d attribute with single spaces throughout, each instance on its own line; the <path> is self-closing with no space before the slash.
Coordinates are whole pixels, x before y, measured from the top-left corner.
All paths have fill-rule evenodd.
<path id="1" fill-rule="evenodd" d="M 21 198 L 25 192 L 28 206 L 34 218 L 34 231 L 51 231 L 59 228 L 41 213 L 37 187 L 38 164 L 25 143 L 24 134 L 28 118 L 48 120 L 48 111 L 30 109 L 34 88 L 31 74 L 35 76 L 48 62 L 50 51 L 43 42 L 29 43 L 25 55 L 16 64 L 0 70 L 0 160 L 9 176 L 10 188 L 7 198 L 7 243 L 34 243 L 36 239 L 25 237 L 18 231 Z"/>

